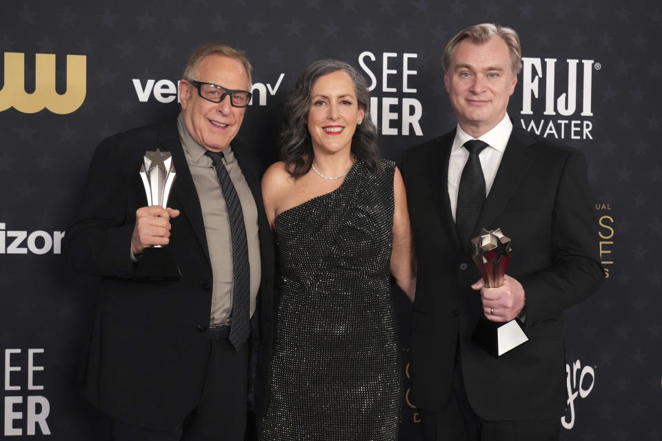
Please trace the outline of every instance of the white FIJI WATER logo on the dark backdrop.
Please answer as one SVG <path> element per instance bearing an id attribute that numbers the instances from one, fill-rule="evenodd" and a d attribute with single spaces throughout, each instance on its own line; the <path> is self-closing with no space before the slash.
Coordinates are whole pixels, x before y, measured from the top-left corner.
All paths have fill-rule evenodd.
<path id="1" fill-rule="evenodd" d="M 539 58 L 524 57 L 522 73 L 522 111 L 523 115 L 533 115 L 535 99 L 544 98 L 544 112 L 540 119 L 522 118 L 521 124 L 525 130 L 541 136 L 553 136 L 556 139 L 593 139 L 591 130 L 593 123 L 585 117 L 593 116 L 592 89 L 593 71 L 601 70 L 600 63 L 594 60 L 581 60 L 581 88 L 577 74 L 579 60 L 567 59 L 567 78 L 561 76 L 561 81 L 567 81 L 567 89 L 556 94 L 556 59 L 545 58 L 545 69 Z M 544 95 L 541 94 L 541 82 L 545 81 Z M 563 83 L 561 83 L 563 87 Z M 581 90 L 581 99 L 578 99 Z M 581 107 L 579 103 L 581 101 Z M 581 109 L 581 110 L 580 110 Z M 579 115 L 577 114 L 579 112 Z M 536 112 L 537 113 L 537 112 Z M 561 119 L 553 116 L 561 115 Z M 566 118 L 563 118 L 565 116 Z"/>

